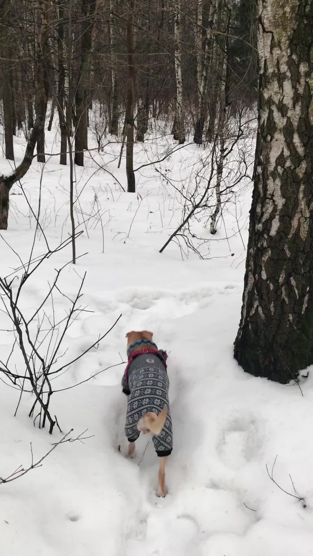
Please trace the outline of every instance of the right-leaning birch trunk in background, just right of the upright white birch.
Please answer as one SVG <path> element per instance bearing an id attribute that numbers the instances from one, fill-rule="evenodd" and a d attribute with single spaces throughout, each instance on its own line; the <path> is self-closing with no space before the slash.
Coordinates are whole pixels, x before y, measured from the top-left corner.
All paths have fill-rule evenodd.
<path id="1" fill-rule="evenodd" d="M 197 123 L 195 125 L 193 140 L 197 145 L 202 145 L 202 137 L 204 130 L 204 123 L 206 122 L 207 111 L 208 111 L 208 99 L 207 99 L 207 86 L 208 86 L 208 76 L 209 76 L 209 66 L 212 57 L 212 38 L 214 21 L 216 18 L 216 3 L 217 0 L 212 0 L 209 8 L 209 21 L 206 31 L 206 41 L 204 47 L 204 59 L 201 70 L 201 75 L 197 73 L 198 77 L 198 94 L 199 94 L 199 110 Z"/>

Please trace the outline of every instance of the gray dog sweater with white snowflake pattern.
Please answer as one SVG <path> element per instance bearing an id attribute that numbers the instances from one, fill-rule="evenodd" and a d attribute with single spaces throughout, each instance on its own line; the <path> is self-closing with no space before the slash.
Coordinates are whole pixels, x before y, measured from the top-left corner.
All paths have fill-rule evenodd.
<path id="1" fill-rule="evenodd" d="M 167 371 L 156 354 L 136 356 L 128 368 L 128 384 L 123 375 L 121 384 L 123 391 L 130 394 L 126 411 L 125 435 L 130 442 L 134 442 L 140 435 L 137 428 L 141 417 L 153 411 L 158 414 L 165 407 L 168 408 L 167 419 L 159 435 L 152 437 L 156 454 L 167 456 L 173 449 L 172 418 L 169 410 L 169 379 Z"/>

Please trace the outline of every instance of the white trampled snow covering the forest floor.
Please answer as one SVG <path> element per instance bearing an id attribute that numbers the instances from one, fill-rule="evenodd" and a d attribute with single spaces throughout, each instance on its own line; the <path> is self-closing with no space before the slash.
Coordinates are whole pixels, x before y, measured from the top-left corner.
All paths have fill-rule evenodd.
<path id="1" fill-rule="evenodd" d="M 47 132 L 47 152 L 57 152 L 58 141 L 56 130 Z M 135 167 L 162 158 L 173 146 L 171 141 L 163 137 L 156 143 L 151 135 L 150 142 L 136 145 Z M 22 156 L 24 146 L 23 138 L 18 138 L 17 157 Z M 292 383 L 281 386 L 243 373 L 232 356 L 242 304 L 250 183 L 238 192 L 236 206 L 231 201 L 223 206 L 215 236 L 204 228 L 204 221 L 194 225 L 198 235 L 210 240 L 202 247 L 206 259 L 199 260 L 192 252 L 187 258 L 174 242 L 159 254 L 180 222 L 182 198 L 154 166 L 166 171 L 175 185 L 183 180 L 185 188 L 190 188 L 205 151 L 187 145 L 168 160 L 141 168 L 136 172 L 140 197 L 121 191 L 111 175 L 125 186 L 124 159 L 120 170 L 117 168 L 119 145 L 108 145 L 105 151 L 100 155 L 91 151 L 94 160 L 89 158 L 84 169 L 75 169 L 76 188 L 81 193 L 76 220 L 81 223 L 79 230 L 84 230 L 76 242 L 77 256 L 86 255 L 75 267 L 65 267 L 59 287 L 73 298 L 86 272 L 81 304 L 93 312 L 81 312 L 71 325 L 64 363 L 82 353 L 122 316 L 97 348 L 55 379 L 53 388 L 68 388 L 118 365 L 126 356 L 126 332 L 153 330 L 156 344 L 169 354 L 174 429 L 174 450 L 166 469 L 169 493 L 164 499 L 155 496 L 158 460 L 146 436 L 136 443 L 134 460 L 124 457 L 126 396 L 120 386 L 124 365 L 114 366 L 76 388 L 53 394 L 51 413 L 57 415 L 63 434 L 73 428 L 71 437 L 75 438 L 87 429 L 85 436 L 91 438 L 57 446 L 40 468 L 0 485 L 2 553 L 313 554 L 311 379 L 301 385 L 302 396 Z M 1 171 L 9 171 L 3 158 Z M 22 186 L 35 212 L 41 177 L 40 222 L 49 245 L 55 247 L 70 232 L 69 167 L 61 167 L 58 157 L 47 157 L 42 172 L 41 165 L 33 161 Z M 18 276 L 14 291 L 21 279 L 21 272 L 14 271 L 20 265 L 14 251 L 27 260 L 36 227 L 20 193 L 21 188 L 13 186 L 9 226 L 2 232 L 7 243 L 1 242 L 1 275 L 13 272 Z M 103 236 L 95 216 L 100 206 Z M 39 232 L 33 257 L 42 252 L 45 241 Z M 26 282 L 20 300 L 25 315 L 33 314 L 55 269 L 70 259 L 69 245 Z M 56 318 L 64 317 L 69 302 L 62 295 L 56 295 L 54 302 Z M 51 314 L 51 306 L 47 312 Z M 1 359 L 6 359 L 12 332 L 7 331 L 10 326 L 3 312 L 0 327 Z M 23 364 L 16 358 L 23 372 Z M 18 398 L 18 390 L 0 383 L 1 476 L 8 476 L 20 464 L 30 465 L 30 442 L 37 461 L 62 438 L 57 428 L 50 436 L 46 429 L 33 426 L 28 418 L 33 403 L 30 394 L 22 396 L 14 418 Z M 276 455 L 273 478 L 295 494 L 291 476 L 306 508 L 269 478 L 266 465 L 271 473 Z"/>

